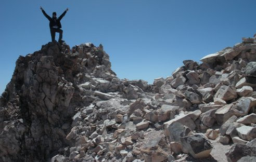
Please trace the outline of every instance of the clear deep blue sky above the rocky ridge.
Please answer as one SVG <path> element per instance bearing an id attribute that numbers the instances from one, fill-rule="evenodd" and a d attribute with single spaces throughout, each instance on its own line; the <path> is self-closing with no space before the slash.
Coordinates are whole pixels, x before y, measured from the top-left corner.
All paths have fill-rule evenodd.
<path id="1" fill-rule="evenodd" d="M 50 16 L 69 7 L 61 23 L 70 47 L 101 43 L 118 77 L 149 83 L 256 33 L 255 0 L 1 0 L 0 93 L 19 55 L 50 41 L 40 6 Z"/>

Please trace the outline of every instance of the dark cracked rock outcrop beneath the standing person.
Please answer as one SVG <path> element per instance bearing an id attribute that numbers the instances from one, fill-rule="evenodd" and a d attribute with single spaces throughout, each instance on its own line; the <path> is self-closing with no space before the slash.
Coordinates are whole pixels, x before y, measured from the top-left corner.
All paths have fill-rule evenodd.
<path id="1" fill-rule="evenodd" d="M 68 145 L 71 117 L 82 106 L 77 84 L 101 71 L 105 77 L 115 76 L 108 55 L 92 44 L 70 50 L 67 45 L 49 43 L 20 56 L 1 97 L 1 112 L 7 112 L 1 117 L 5 121 L 0 127 L 2 159 L 38 161 Z M 67 129 L 61 129 L 63 124 Z"/>

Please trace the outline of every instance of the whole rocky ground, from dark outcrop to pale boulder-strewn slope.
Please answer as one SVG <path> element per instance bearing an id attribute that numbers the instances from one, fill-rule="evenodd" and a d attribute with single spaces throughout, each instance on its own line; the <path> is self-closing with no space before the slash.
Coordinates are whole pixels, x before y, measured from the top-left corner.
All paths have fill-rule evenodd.
<path id="1" fill-rule="evenodd" d="M 119 79 L 103 46 L 48 43 L 20 56 L 0 98 L 0 161 L 251 161 L 256 40 Z"/>

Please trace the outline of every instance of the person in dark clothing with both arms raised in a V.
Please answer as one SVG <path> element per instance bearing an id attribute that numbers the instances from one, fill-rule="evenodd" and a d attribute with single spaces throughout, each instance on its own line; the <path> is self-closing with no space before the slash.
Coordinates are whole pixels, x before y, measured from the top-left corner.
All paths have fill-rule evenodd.
<path id="1" fill-rule="evenodd" d="M 62 40 L 62 29 L 61 28 L 61 23 L 60 20 L 65 16 L 69 8 L 67 8 L 58 18 L 56 12 L 53 12 L 53 17 L 49 17 L 47 13 L 44 11 L 44 9 L 40 6 L 40 9 L 42 10 L 44 16 L 50 21 L 49 26 L 50 26 L 50 35 L 52 36 L 52 42 L 55 41 L 55 33 L 59 33 L 59 43 L 65 42 Z"/>

